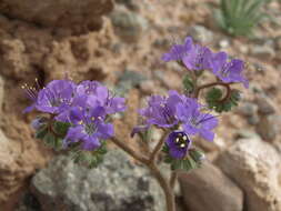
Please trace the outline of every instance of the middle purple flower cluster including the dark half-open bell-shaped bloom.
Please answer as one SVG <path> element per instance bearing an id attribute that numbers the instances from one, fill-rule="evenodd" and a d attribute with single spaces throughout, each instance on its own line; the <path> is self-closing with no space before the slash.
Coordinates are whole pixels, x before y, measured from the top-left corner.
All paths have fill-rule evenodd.
<path id="1" fill-rule="evenodd" d="M 179 94 L 177 91 L 169 91 L 168 97 L 152 96 L 148 101 L 148 107 L 139 111 L 144 118 L 144 125 L 134 128 L 133 134 L 151 125 L 171 129 L 173 132 L 165 141 L 170 148 L 170 154 L 182 158 L 191 144 L 189 135 L 199 134 L 208 141 L 214 138 L 212 130 L 218 125 L 218 119 L 202 112 L 202 104 L 195 99 Z"/>

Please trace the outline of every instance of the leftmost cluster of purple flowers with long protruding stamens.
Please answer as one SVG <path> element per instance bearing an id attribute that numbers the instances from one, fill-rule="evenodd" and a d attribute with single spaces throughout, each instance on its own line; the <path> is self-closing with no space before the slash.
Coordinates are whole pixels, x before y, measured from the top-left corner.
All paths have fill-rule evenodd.
<path id="1" fill-rule="evenodd" d="M 24 88 L 33 109 L 50 113 L 57 121 L 70 123 L 63 140 L 64 147 L 79 142 L 83 150 L 100 147 L 100 140 L 113 135 L 113 125 L 107 122 L 108 115 L 126 110 L 124 99 L 112 96 L 97 81 L 76 84 L 70 80 L 53 80 L 41 90 Z"/>

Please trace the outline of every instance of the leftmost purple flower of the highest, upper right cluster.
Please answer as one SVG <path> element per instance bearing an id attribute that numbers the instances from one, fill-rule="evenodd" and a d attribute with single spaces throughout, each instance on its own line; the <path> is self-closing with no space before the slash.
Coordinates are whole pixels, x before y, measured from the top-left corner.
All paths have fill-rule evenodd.
<path id="1" fill-rule="evenodd" d="M 181 60 L 184 56 L 189 54 L 193 47 L 191 37 L 187 37 L 183 44 L 174 44 L 168 53 L 162 56 L 163 61 Z"/>

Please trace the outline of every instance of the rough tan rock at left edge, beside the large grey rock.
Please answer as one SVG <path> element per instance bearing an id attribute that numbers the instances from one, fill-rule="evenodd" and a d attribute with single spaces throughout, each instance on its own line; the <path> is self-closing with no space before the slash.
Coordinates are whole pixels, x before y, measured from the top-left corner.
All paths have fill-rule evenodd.
<path id="1" fill-rule="evenodd" d="M 24 134 L 23 134 L 24 135 Z M 30 139 L 30 138 L 29 138 Z M 34 143 L 21 145 L 0 130 L 0 204 L 17 192 L 23 180 L 46 162 Z M 37 158 L 37 159 L 34 159 Z"/>

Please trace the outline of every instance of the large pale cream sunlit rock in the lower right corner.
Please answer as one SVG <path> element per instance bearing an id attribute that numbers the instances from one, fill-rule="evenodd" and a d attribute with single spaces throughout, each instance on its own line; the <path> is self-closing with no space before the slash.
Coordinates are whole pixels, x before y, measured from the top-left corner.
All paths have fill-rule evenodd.
<path id="1" fill-rule="evenodd" d="M 269 143 L 241 139 L 220 154 L 215 163 L 245 192 L 245 210 L 280 211 L 280 161 Z"/>

